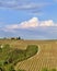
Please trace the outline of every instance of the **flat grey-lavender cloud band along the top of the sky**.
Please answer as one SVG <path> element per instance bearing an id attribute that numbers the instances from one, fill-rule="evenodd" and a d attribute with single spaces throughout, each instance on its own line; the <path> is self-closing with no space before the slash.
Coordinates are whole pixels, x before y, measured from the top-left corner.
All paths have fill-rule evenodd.
<path id="1" fill-rule="evenodd" d="M 29 0 L 0 0 L 0 8 L 10 8 L 18 10 L 41 10 L 41 8 L 49 5 L 49 3 L 32 2 Z"/>

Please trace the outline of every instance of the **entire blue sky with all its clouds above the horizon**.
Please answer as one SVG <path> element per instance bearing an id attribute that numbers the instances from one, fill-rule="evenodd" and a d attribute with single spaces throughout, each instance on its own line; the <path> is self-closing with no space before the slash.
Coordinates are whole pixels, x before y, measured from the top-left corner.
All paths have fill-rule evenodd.
<path id="1" fill-rule="evenodd" d="M 0 37 L 57 39 L 57 0 L 0 0 Z"/>

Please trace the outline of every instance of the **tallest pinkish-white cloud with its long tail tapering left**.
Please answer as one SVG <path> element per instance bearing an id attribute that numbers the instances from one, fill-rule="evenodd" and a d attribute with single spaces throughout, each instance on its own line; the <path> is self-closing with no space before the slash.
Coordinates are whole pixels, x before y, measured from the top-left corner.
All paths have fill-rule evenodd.
<path id="1" fill-rule="evenodd" d="M 37 26 L 38 26 L 38 20 L 37 17 L 33 17 L 20 24 L 5 25 L 4 31 L 13 32 L 14 29 L 19 29 L 19 28 L 35 28 Z"/>

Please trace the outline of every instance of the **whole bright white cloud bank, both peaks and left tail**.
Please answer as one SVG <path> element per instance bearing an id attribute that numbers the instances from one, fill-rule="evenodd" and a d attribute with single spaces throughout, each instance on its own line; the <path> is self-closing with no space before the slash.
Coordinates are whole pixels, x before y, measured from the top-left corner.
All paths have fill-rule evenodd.
<path id="1" fill-rule="evenodd" d="M 48 26 L 56 26 L 57 24 L 53 22 L 53 20 L 48 21 L 39 21 L 37 17 L 32 17 L 29 21 L 24 21 L 19 24 L 12 24 L 12 25 L 7 25 L 4 27 L 4 31 L 14 31 L 19 28 L 38 28 L 38 27 L 48 27 Z"/>

